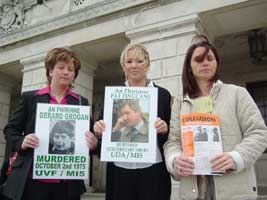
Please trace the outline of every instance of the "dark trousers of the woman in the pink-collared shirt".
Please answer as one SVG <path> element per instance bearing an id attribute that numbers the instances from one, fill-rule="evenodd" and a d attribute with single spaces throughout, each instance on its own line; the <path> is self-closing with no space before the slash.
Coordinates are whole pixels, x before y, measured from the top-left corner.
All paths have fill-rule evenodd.
<path id="1" fill-rule="evenodd" d="M 22 200 L 80 200 L 80 196 L 70 197 L 67 182 L 43 183 L 28 179 Z"/>

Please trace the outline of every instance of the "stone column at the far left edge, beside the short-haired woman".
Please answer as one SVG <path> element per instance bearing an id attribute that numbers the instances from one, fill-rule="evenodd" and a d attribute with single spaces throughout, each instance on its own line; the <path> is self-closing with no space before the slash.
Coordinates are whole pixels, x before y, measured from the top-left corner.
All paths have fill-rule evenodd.
<path id="1" fill-rule="evenodd" d="M 6 141 L 3 134 L 3 129 L 8 122 L 11 92 L 13 84 L 10 79 L 4 75 L 0 75 L 0 166 L 5 157 Z"/>

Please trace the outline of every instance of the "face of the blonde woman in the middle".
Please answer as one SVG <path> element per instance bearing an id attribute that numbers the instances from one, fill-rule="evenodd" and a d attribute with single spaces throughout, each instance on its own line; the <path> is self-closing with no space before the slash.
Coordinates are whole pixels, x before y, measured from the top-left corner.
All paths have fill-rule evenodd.
<path id="1" fill-rule="evenodd" d="M 143 54 L 129 50 L 124 61 L 123 71 L 131 83 L 146 81 L 148 62 Z"/>

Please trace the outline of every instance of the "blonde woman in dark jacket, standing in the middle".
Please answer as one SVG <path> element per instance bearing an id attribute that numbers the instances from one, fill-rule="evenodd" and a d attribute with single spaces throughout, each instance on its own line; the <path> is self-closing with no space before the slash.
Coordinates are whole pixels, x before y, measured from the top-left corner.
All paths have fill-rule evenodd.
<path id="1" fill-rule="evenodd" d="M 144 46 L 128 45 L 121 55 L 121 65 L 127 77 L 126 86 L 158 88 L 157 160 L 154 164 L 108 163 L 106 200 L 168 200 L 171 179 L 164 162 L 163 144 L 169 133 L 171 95 L 147 79 L 150 60 Z M 104 129 L 103 120 L 95 123 L 95 134 L 101 136 Z"/>

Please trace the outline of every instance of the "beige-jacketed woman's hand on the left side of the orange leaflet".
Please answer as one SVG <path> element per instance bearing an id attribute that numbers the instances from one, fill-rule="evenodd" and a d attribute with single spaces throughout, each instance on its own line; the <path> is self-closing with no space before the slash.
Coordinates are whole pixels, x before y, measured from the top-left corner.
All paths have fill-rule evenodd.
<path id="1" fill-rule="evenodd" d="M 174 159 L 173 168 L 180 176 L 190 176 L 194 171 L 194 161 L 190 157 L 179 156 Z"/>

